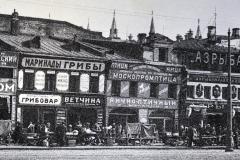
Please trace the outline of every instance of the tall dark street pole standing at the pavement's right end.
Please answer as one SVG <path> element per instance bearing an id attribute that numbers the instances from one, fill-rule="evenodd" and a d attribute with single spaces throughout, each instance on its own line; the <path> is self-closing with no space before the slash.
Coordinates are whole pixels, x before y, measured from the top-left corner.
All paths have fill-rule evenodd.
<path id="1" fill-rule="evenodd" d="M 231 50 L 230 50 L 230 28 L 228 29 L 228 105 L 227 105 L 227 137 L 225 152 L 233 151 L 233 134 L 232 134 L 232 87 L 231 87 Z"/>

